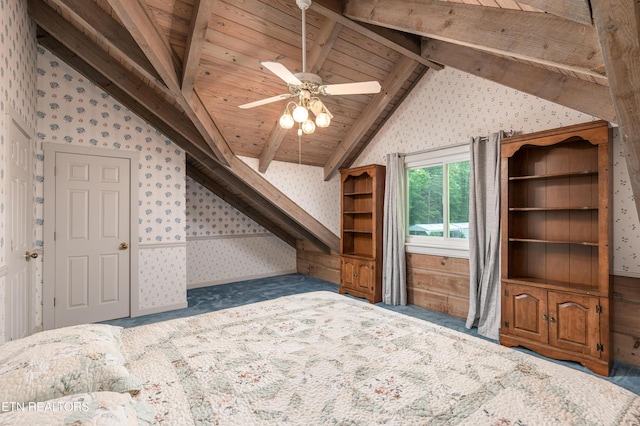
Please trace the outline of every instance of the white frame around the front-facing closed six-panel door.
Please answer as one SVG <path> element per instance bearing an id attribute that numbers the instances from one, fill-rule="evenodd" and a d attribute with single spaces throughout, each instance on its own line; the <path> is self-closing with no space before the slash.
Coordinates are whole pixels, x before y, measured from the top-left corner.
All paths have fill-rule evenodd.
<path id="1" fill-rule="evenodd" d="M 134 151 L 110 150 L 75 145 L 63 145 L 59 143 L 44 143 L 44 253 L 43 258 L 43 289 L 42 289 L 42 325 L 45 330 L 55 327 L 55 310 L 53 299 L 55 297 L 55 241 L 54 227 L 55 216 L 55 159 L 56 153 L 69 153 L 80 155 L 95 155 L 100 157 L 126 158 L 131 160 L 130 165 L 130 226 L 129 226 L 129 312 L 131 317 L 139 315 L 140 287 L 138 282 L 138 158 Z M 49 247 L 49 248 L 48 248 Z"/>

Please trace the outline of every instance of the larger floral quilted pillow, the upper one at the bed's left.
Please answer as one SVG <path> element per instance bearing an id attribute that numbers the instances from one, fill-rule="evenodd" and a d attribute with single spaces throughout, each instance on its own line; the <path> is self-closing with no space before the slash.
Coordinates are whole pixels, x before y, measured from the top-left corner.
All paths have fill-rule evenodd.
<path id="1" fill-rule="evenodd" d="M 129 373 L 120 352 L 121 334 L 122 327 L 84 324 L 0 345 L 0 402 L 139 391 L 142 383 Z"/>

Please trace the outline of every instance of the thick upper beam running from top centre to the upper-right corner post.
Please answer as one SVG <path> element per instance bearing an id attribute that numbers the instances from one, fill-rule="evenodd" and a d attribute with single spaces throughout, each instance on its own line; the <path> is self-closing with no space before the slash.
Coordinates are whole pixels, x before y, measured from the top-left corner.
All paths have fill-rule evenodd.
<path id="1" fill-rule="evenodd" d="M 345 15 L 357 21 L 571 71 L 596 75 L 603 71 L 596 29 L 548 13 L 437 0 L 349 0 Z"/>

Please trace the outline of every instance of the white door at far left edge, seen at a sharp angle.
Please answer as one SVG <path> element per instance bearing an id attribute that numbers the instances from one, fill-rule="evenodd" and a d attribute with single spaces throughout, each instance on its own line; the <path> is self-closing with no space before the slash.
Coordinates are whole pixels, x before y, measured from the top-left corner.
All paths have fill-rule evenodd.
<path id="1" fill-rule="evenodd" d="M 31 304 L 31 253 L 33 245 L 33 194 L 31 140 L 9 119 L 7 145 L 7 278 L 5 340 L 28 336 L 33 330 Z M 34 256 L 37 256 L 34 254 Z"/>

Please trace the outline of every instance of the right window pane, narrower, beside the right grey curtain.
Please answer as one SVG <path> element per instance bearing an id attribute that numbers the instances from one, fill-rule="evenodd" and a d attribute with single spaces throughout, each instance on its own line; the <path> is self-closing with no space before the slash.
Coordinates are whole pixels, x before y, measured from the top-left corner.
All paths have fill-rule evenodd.
<path id="1" fill-rule="evenodd" d="M 449 238 L 469 238 L 469 161 L 450 163 Z"/>

